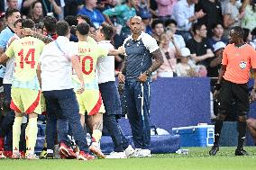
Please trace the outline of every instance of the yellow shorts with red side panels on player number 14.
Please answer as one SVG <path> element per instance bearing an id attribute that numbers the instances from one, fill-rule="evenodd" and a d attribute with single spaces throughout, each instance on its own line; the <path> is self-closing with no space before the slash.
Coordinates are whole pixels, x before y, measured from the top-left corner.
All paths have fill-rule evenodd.
<path id="1" fill-rule="evenodd" d="M 12 88 L 11 109 L 15 112 L 41 114 L 41 91 L 25 88 Z"/>

